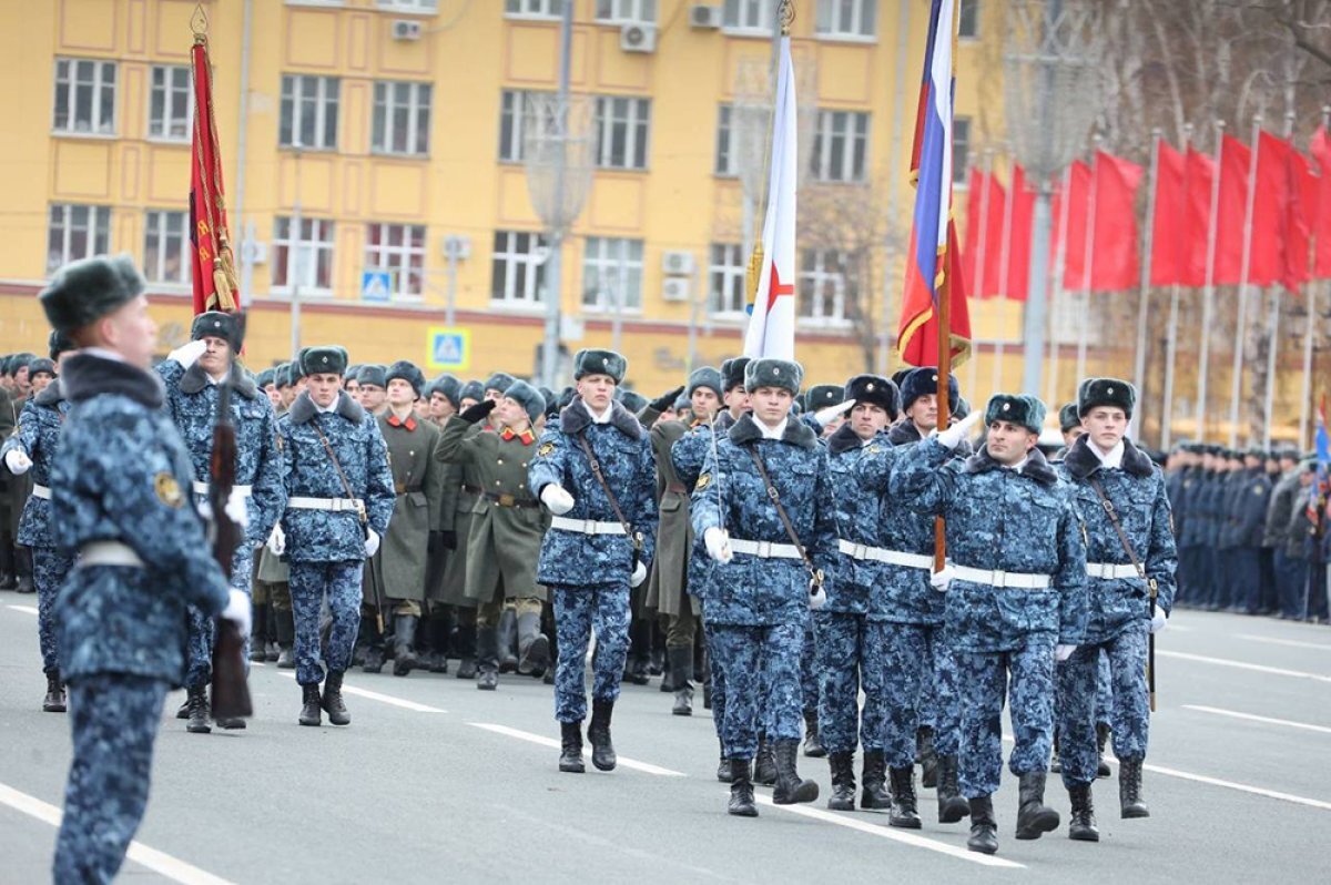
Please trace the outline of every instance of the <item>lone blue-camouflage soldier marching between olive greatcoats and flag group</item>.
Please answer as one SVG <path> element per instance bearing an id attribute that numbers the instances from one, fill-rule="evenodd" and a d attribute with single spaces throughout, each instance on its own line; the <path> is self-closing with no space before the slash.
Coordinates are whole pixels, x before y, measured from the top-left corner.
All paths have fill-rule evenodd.
<path id="1" fill-rule="evenodd" d="M 574 357 L 578 395 L 540 437 L 527 487 L 550 510 L 536 579 L 554 595 L 558 635 L 555 719 L 559 771 L 580 773 L 587 715 L 584 661 L 596 632 L 592 764 L 616 765 L 610 736 L 628 656 L 630 590 L 647 580 L 656 538 L 652 448 L 638 419 L 615 402 L 628 363 L 610 350 Z"/>

